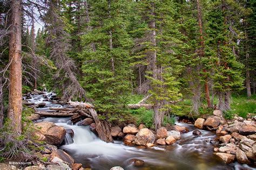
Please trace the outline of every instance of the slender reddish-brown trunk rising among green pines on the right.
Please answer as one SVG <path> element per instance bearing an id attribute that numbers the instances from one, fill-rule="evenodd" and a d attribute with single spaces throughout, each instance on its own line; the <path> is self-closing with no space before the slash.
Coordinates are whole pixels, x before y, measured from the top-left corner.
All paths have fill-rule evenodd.
<path id="1" fill-rule="evenodd" d="M 197 0 L 197 13 L 198 13 L 198 25 L 199 25 L 199 33 L 200 33 L 200 50 L 199 50 L 199 55 L 201 57 L 203 57 L 205 55 L 204 53 L 204 36 L 203 36 L 203 24 L 202 24 L 202 14 L 201 14 L 201 7 L 200 7 L 200 2 L 199 0 Z M 203 72 L 206 73 L 207 70 L 203 69 Z M 212 108 L 212 103 L 210 101 L 210 92 L 209 92 L 209 88 L 208 88 L 208 81 L 207 81 L 207 77 L 205 77 L 205 98 L 207 101 L 207 107 L 208 108 Z"/>

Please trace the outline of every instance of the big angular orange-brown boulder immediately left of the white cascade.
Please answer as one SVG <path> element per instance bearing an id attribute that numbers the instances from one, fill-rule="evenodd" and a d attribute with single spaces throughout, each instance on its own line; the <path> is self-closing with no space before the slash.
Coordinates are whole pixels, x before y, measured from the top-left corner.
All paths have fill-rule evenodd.
<path id="1" fill-rule="evenodd" d="M 52 122 L 35 123 L 36 136 L 51 145 L 60 145 L 65 138 L 66 131 L 63 126 L 57 126 Z"/>

